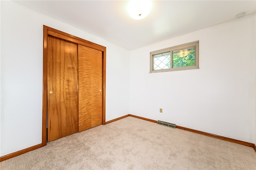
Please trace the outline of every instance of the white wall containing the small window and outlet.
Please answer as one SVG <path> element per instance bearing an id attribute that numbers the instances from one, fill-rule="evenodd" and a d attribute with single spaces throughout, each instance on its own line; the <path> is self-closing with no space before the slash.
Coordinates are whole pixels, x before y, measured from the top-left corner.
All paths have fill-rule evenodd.
<path id="1" fill-rule="evenodd" d="M 250 15 L 130 51 L 130 114 L 254 143 L 255 31 Z M 149 73 L 150 51 L 196 40 L 200 69 Z"/>

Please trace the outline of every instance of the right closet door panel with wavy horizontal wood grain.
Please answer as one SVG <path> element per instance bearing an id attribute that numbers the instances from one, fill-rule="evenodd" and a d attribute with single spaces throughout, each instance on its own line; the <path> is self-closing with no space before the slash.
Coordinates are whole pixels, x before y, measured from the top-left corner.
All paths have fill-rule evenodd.
<path id="1" fill-rule="evenodd" d="M 78 131 L 102 124 L 102 51 L 78 45 Z"/>

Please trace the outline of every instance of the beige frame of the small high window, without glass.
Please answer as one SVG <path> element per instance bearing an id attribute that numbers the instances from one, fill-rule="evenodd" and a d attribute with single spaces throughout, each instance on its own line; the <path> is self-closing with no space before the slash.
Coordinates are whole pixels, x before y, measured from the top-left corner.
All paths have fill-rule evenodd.
<path id="1" fill-rule="evenodd" d="M 172 67 L 172 52 L 181 50 L 181 49 L 186 49 L 190 47 L 195 47 L 195 65 L 194 66 L 182 66 L 182 67 Z M 167 53 L 170 52 L 170 68 L 166 69 L 161 69 L 161 70 L 153 70 L 154 69 L 154 57 L 153 55 L 158 55 L 162 53 Z M 176 45 L 173 47 L 168 47 L 165 49 L 160 49 L 156 51 L 150 52 L 150 73 L 153 72 L 166 72 L 166 71 L 177 71 L 177 70 L 190 70 L 190 69 L 197 69 L 199 68 L 199 41 L 193 41 L 190 43 L 185 43 L 181 45 Z"/>

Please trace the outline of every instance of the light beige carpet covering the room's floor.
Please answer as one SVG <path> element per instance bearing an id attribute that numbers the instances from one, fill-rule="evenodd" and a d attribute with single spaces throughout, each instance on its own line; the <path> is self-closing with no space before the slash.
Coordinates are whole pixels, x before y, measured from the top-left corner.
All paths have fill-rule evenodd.
<path id="1" fill-rule="evenodd" d="M 256 170 L 256 152 L 251 147 L 126 117 L 0 162 L 0 169 Z"/>

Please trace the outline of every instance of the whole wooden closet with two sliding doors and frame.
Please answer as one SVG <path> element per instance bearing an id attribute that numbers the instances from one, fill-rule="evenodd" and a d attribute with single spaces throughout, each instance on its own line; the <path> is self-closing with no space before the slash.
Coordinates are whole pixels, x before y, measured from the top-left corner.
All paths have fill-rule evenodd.
<path id="1" fill-rule="evenodd" d="M 106 47 L 44 25 L 43 63 L 43 145 L 105 124 Z"/>

